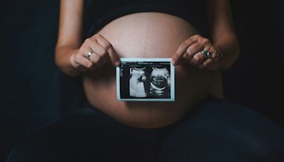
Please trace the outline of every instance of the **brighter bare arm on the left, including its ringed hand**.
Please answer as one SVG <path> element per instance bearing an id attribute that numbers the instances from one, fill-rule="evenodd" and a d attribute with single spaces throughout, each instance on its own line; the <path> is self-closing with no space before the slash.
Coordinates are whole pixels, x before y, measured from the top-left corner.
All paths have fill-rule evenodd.
<path id="1" fill-rule="evenodd" d="M 94 70 L 111 63 L 119 65 L 119 57 L 112 45 L 99 34 L 82 40 L 84 0 L 61 0 L 58 43 L 55 64 L 66 75 Z M 88 56 L 88 53 L 90 55 Z"/>

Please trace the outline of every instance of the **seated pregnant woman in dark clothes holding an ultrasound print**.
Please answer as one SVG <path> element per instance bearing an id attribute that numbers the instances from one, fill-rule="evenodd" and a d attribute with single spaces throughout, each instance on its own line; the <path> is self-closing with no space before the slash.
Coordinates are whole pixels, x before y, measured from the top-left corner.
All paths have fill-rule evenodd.
<path id="1" fill-rule="evenodd" d="M 87 108 L 35 132 L 13 161 L 284 161 L 284 131 L 222 99 L 239 56 L 229 0 L 60 1 L 55 62 Z M 119 58 L 172 58 L 175 102 L 116 99 Z"/>

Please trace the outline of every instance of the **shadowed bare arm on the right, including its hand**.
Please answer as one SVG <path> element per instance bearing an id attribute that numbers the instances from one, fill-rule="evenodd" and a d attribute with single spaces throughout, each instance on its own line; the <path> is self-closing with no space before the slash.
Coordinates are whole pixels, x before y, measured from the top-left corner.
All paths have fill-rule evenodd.
<path id="1" fill-rule="evenodd" d="M 239 43 L 232 23 L 229 0 L 209 1 L 208 13 L 212 41 L 199 35 L 188 38 L 173 55 L 173 65 L 184 60 L 200 68 L 225 70 L 239 57 Z M 203 49 L 211 53 L 210 58 L 204 57 L 201 52 Z"/>

